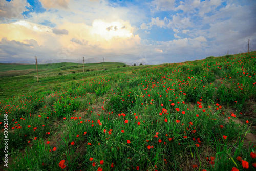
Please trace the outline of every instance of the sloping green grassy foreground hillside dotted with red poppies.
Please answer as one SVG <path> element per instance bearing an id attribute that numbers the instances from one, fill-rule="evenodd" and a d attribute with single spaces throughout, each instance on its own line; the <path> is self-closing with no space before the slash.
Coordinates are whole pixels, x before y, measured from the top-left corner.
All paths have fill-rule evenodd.
<path id="1" fill-rule="evenodd" d="M 256 170 L 255 66 L 254 51 L 39 83 L 1 78 L 1 167 Z"/>

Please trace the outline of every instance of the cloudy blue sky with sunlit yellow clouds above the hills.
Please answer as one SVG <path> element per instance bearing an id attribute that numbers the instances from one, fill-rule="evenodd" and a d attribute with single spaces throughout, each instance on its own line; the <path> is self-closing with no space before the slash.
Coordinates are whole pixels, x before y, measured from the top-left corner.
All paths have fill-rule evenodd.
<path id="1" fill-rule="evenodd" d="M 0 0 L 0 62 L 193 61 L 256 49 L 254 0 Z"/>

